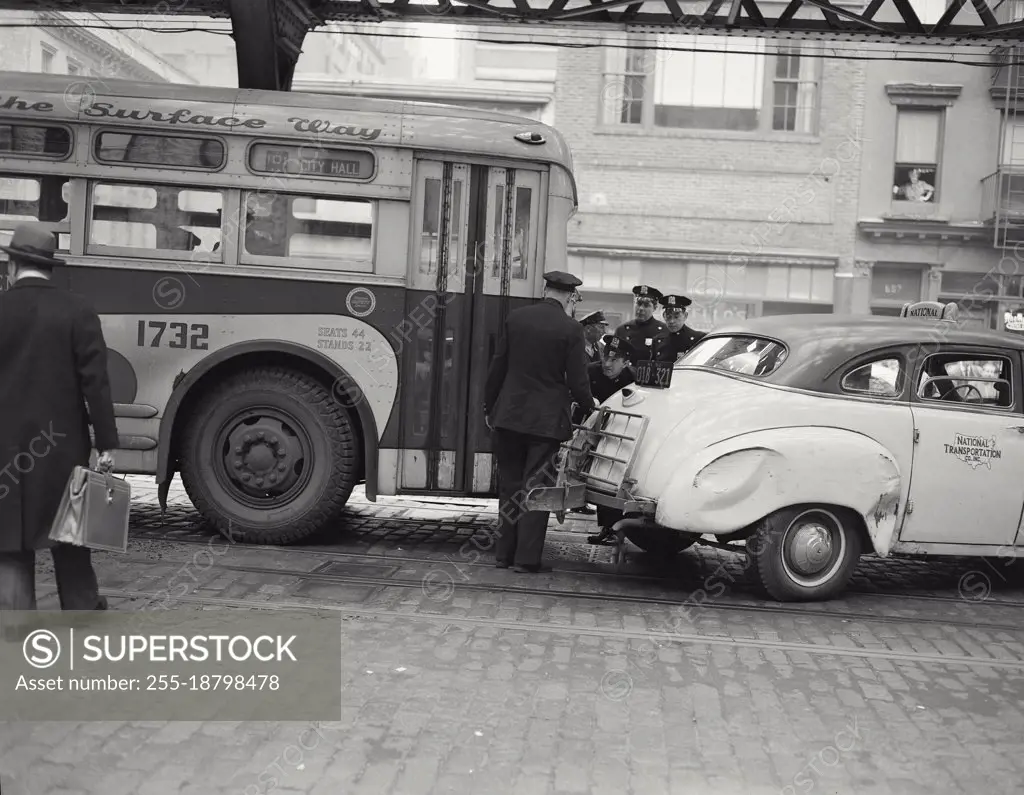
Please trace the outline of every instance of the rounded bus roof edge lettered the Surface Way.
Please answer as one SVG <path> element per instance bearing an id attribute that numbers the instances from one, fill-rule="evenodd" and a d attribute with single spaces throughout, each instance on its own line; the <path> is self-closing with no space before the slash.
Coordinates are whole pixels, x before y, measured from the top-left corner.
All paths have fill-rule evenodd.
<path id="1" fill-rule="evenodd" d="M 327 93 L 209 88 L 4 72 L 0 119 L 80 121 L 168 132 L 243 133 L 546 162 L 572 176 L 561 133 L 490 111 Z M 573 177 L 573 194 L 575 180 Z"/>

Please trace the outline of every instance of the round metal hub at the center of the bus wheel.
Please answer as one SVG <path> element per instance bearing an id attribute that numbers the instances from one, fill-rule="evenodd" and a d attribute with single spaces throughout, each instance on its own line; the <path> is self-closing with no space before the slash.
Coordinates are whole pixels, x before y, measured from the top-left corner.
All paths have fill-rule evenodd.
<path id="1" fill-rule="evenodd" d="M 312 469 L 312 446 L 302 426 L 271 409 L 242 412 L 218 434 L 221 479 L 237 499 L 271 507 L 301 491 Z"/>

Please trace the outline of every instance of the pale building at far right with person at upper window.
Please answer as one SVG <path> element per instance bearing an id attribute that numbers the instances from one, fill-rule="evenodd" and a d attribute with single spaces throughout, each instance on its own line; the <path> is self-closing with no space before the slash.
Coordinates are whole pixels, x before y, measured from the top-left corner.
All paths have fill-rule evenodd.
<path id="1" fill-rule="evenodd" d="M 996 14 L 1011 22 L 1022 9 Z M 1024 332 L 1022 52 L 987 56 L 989 69 L 868 65 L 854 311 L 955 301 L 962 325 Z"/>

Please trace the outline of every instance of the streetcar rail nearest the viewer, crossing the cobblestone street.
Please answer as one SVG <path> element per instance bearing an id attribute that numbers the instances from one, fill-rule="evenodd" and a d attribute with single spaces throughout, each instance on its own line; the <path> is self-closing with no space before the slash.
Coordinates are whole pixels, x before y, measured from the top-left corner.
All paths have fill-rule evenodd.
<path id="1" fill-rule="evenodd" d="M 159 597 L 159 593 L 147 591 L 133 591 L 123 589 L 103 588 L 100 589 L 104 596 L 127 599 L 152 599 Z M 894 652 L 888 648 L 855 648 L 849 646 L 838 646 L 826 643 L 808 643 L 785 640 L 762 640 L 759 638 L 723 637 L 721 635 L 696 635 L 685 632 L 659 632 L 656 630 L 618 629 L 614 627 L 581 627 L 574 625 L 554 624 L 550 622 L 535 621 L 506 621 L 502 619 L 473 618 L 468 616 L 446 616 L 427 613 L 410 613 L 402 611 L 392 611 L 372 608 L 349 608 L 339 604 L 329 603 L 304 603 L 304 602 L 268 602 L 250 601 L 248 599 L 231 599 L 223 596 L 175 596 L 172 601 L 193 604 L 209 604 L 213 606 L 243 608 L 250 610 L 271 610 L 271 611 L 303 611 L 308 613 L 323 613 L 329 611 L 340 616 L 355 616 L 367 618 L 397 618 L 403 620 L 425 621 L 433 624 L 470 625 L 475 627 L 492 627 L 496 629 L 506 629 L 516 632 L 547 632 L 561 635 L 577 635 L 587 637 L 600 637 L 604 639 L 641 639 L 653 641 L 666 641 L 671 643 L 682 643 L 687 645 L 725 645 L 742 648 L 760 648 L 764 651 L 776 652 L 799 652 L 804 654 L 829 656 L 829 657 L 854 657 L 861 659 L 881 659 L 889 662 L 906 662 L 933 665 L 964 665 L 968 667 L 989 667 L 1005 668 L 1024 671 L 1024 661 L 1006 660 L 999 658 L 980 657 L 958 657 L 952 655 L 928 655 L 919 652 Z"/>

